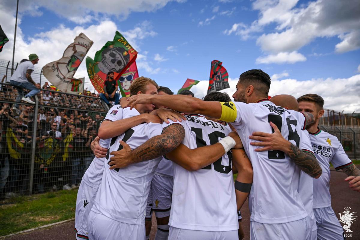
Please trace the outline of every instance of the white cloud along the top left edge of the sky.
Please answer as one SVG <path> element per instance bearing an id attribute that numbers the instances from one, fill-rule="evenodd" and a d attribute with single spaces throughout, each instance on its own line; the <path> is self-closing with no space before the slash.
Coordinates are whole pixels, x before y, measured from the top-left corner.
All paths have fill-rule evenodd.
<path id="1" fill-rule="evenodd" d="M 31 13 L 32 15 L 41 14 L 39 7 L 44 7 L 54 13 L 59 14 L 75 23 L 85 23 L 90 21 L 89 15 L 95 16 L 98 13 L 105 15 L 115 15 L 126 19 L 131 12 L 151 12 L 163 8 L 167 3 L 174 0 L 22 0 L 19 4 L 20 13 Z M 175 0 L 183 3 L 184 0 Z M 16 1 L 3 1 L 3 8 L 16 9 Z M 73 17 L 76 16 L 76 17 Z M 80 20 L 80 22 L 79 22 Z"/>

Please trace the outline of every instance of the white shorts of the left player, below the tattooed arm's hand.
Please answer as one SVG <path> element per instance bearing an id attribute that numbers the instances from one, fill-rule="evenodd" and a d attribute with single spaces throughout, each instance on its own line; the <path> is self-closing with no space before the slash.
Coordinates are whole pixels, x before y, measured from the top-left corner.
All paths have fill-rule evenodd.
<path id="1" fill-rule="evenodd" d="M 89 213 L 90 240 L 145 240 L 145 225 L 118 222 L 100 213 Z"/>

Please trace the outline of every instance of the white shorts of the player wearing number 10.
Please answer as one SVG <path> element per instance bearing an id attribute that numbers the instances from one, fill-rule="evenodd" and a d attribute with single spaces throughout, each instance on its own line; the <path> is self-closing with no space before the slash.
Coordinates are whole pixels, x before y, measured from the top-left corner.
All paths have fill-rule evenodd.
<path id="1" fill-rule="evenodd" d="M 178 229 L 171 227 L 169 229 L 168 240 L 239 240 L 238 230 L 211 232 L 197 231 L 188 229 Z"/>

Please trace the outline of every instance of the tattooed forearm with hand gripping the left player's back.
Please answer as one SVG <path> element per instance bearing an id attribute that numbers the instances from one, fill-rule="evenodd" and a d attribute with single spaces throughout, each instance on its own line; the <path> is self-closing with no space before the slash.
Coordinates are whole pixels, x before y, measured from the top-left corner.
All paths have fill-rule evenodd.
<path id="1" fill-rule="evenodd" d="M 123 149 L 110 153 L 110 155 L 113 155 L 109 162 L 110 169 L 123 168 L 133 163 L 163 156 L 177 148 L 184 137 L 184 127 L 181 124 L 171 124 L 163 129 L 161 135 L 150 138 L 134 150 L 131 150 L 130 146 L 125 142 L 120 141 Z"/>

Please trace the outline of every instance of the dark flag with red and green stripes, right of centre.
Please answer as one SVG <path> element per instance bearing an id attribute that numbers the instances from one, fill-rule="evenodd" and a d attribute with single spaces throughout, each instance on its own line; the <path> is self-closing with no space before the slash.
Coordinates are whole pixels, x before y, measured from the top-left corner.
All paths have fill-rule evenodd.
<path id="1" fill-rule="evenodd" d="M 216 92 L 221 89 L 230 88 L 228 71 L 221 65 L 222 62 L 213 60 L 210 68 L 210 79 L 207 93 Z"/>

